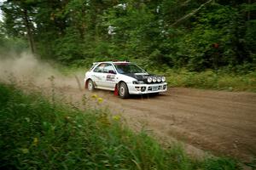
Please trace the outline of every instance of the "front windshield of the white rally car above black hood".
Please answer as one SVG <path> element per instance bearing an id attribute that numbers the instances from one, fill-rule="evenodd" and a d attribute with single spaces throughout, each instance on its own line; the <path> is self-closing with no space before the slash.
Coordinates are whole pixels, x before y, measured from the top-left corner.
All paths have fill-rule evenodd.
<path id="1" fill-rule="evenodd" d="M 146 73 L 146 71 L 143 71 L 143 69 L 141 69 L 137 65 L 130 63 L 116 63 L 115 68 L 120 74 Z"/>

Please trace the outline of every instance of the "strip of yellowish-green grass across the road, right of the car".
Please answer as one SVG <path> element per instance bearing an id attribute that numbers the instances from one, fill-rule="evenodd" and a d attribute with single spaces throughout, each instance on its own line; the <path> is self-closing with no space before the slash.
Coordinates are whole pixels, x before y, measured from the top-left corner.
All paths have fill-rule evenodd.
<path id="1" fill-rule="evenodd" d="M 169 87 L 204 88 L 224 91 L 247 91 L 256 93 L 256 72 L 247 74 L 225 71 L 193 72 L 185 69 L 154 71 L 165 75 Z"/>

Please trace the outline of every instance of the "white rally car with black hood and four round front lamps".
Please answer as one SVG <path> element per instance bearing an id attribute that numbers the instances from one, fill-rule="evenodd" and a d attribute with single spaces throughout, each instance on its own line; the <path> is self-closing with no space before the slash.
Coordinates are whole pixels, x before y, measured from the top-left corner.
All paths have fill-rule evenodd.
<path id="1" fill-rule="evenodd" d="M 93 63 L 85 73 L 85 88 L 114 91 L 120 98 L 130 94 L 158 94 L 166 92 L 166 77 L 154 76 L 139 66 L 126 61 Z"/>

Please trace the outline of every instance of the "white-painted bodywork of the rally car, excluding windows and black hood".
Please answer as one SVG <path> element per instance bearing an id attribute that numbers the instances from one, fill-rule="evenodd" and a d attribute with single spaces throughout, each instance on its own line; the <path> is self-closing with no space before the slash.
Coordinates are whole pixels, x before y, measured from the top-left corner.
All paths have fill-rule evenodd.
<path id="1" fill-rule="evenodd" d="M 90 79 L 92 82 L 94 82 L 95 88 L 105 89 L 105 90 L 111 90 L 114 91 L 116 88 L 116 85 L 119 84 L 119 82 L 125 82 L 129 91 L 129 94 L 153 94 L 153 93 L 160 93 L 160 92 L 166 92 L 167 91 L 167 82 L 160 82 L 160 83 L 142 83 L 142 84 L 134 84 L 133 82 L 137 81 L 134 77 L 126 76 L 125 74 L 120 74 L 116 67 L 114 66 L 115 63 L 119 62 L 99 62 L 94 63 L 90 71 L 87 71 L 85 73 L 84 77 L 84 83 Z M 125 61 L 122 61 L 120 63 L 125 63 Z M 126 62 L 129 64 L 129 62 Z M 95 72 L 96 67 L 101 64 L 111 64 L 113 65 L 113 73 L 106 73 L 106 72 Z M 135 73 L 135 75 L 149 75 L 147 72 L 145 73 Z M 85 85 L 86 86 L 86 85 Z M 145 87 L 145 91 L 141 91 L 141 88 Z M 151 89 L 151 90 L 150 90 Z"/>

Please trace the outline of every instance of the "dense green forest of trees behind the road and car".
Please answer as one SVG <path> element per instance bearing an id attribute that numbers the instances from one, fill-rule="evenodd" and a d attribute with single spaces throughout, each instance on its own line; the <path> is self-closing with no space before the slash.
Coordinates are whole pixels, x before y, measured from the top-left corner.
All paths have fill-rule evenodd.
<path id="1" fill-rule="evenodd" d="M 7 0 L 0 53 L 63 64 L 129 59 L 146 68 L 255 71 L 253 0 Z"/>

